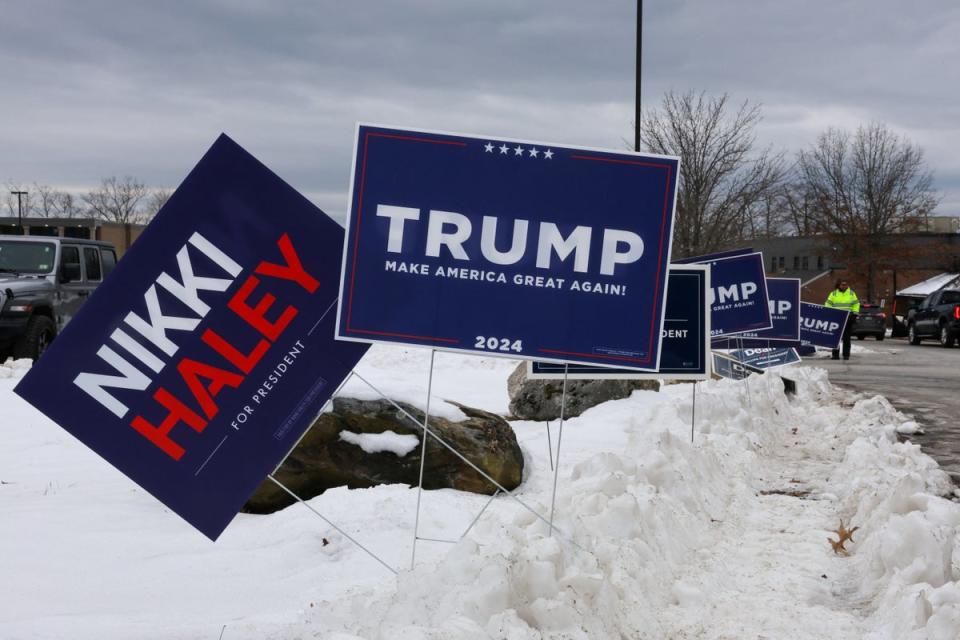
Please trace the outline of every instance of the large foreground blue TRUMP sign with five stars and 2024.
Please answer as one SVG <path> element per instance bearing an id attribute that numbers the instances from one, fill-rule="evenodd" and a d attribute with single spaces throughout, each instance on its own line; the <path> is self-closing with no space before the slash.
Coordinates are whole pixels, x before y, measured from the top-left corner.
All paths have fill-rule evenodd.
<path id="1" fill-rule="evenodd" d="M 656 370 L 677 168 L 359 125 L 337 337 Z"/>

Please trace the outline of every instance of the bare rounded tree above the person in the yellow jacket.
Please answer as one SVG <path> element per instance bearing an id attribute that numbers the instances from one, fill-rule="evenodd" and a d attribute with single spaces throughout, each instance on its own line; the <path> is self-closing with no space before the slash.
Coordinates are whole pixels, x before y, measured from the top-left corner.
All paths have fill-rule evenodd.
<path id="1" fill-rule="evenodd" d="M 895 262 L 890 234 L 939 202 L 923 150 L 880 123 L 853 134 L 829 129 L 800 152 L 797 168 L 814 226 L 848 267 L 866 275 L 872 299 L 878 269 Z"/>

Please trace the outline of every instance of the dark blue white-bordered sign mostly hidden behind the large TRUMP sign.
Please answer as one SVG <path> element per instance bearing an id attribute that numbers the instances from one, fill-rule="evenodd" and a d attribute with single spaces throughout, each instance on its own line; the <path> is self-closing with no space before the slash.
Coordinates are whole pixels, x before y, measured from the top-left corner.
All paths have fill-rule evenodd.
<path id="1" fill-rule="evenodd" d="M 707 291 L 710 270 L 703 265 L 671 265 L 668 276 L 667 317 L 663 325 L 660 369 L 643 373 L 631 369 L 555 362 L 527 363 L 534 380 L 706 380 L 710 377 L 710 314 Z"/>

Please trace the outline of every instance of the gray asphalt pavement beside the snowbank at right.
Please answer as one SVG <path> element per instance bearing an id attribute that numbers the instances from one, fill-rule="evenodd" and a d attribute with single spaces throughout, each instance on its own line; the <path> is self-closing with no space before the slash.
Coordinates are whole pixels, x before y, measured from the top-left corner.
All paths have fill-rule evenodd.
<path id="1" fill-rule="evenodd" d="M 932 340 L 911 346 L 903 338 L 854 338 L 853 344 L 848 361 L 805 358 L 804 364 L 827 369 L 834 384 L 886 396 L 926 431 L 910 441 L 960 484 L 960 348 Z"/>

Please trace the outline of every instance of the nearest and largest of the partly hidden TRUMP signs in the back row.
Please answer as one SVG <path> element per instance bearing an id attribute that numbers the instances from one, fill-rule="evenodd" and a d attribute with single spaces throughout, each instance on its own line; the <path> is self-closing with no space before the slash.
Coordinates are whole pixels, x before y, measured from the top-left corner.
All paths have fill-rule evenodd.
<path id="1" fill-rule="evenodd" d="M 710 266 L 710 333 L 715 337 L 769 329 L 766 272 L 762 253 L 693 258 Z"/>

